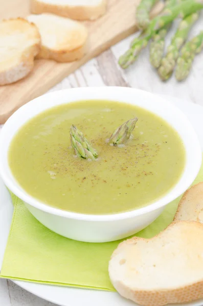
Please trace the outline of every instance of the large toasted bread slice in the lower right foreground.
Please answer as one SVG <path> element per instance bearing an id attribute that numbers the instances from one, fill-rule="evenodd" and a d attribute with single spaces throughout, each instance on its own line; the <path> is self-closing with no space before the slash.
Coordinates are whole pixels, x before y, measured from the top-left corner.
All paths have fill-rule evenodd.
<path id="1" fill-rule="evenodd" d="M 143 306 L 186 303 L 203 297 L 203 225 L 172 222 L 151 239 L 119 244 L 109 262 L 115 289 Z"/>

